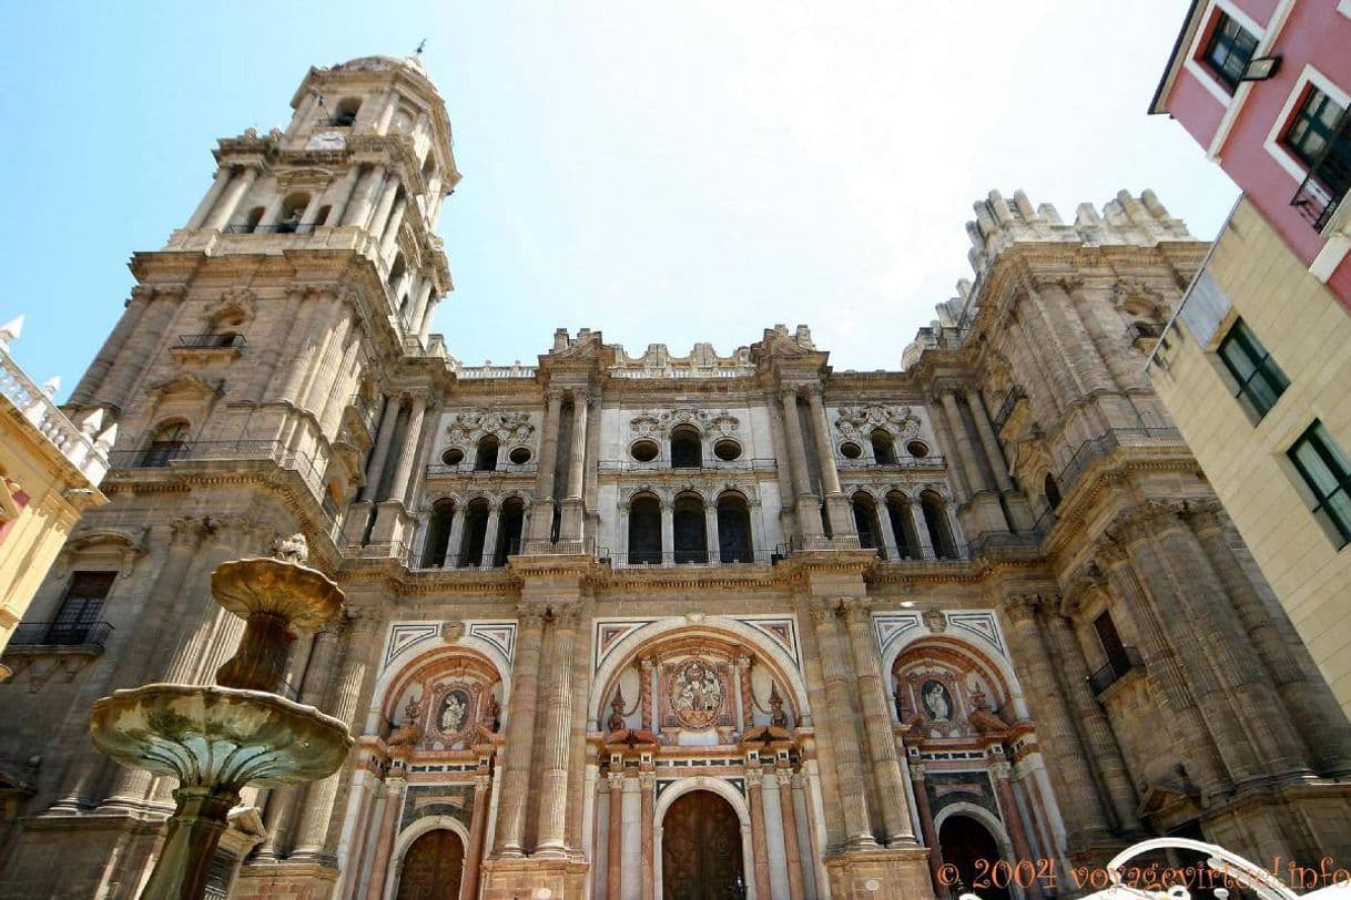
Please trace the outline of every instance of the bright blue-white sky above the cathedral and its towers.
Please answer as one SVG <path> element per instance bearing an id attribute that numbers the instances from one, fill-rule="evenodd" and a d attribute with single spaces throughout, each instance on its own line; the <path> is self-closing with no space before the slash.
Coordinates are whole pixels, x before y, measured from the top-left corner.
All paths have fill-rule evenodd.
<path id="1" fill-rule="evenodd" d="M 555 327 L 725 354 L 807 322 L 838 368 L 897 368 L 992 188 L 1066 219 L 1154 188 L 1217 231 L 1236 189 L 1146 115 L 1185 7 L 3 4 L 0 321 L 27 314 L 12 352 L 65 395 L 218 138 L 285 124 L 309 65 L 426 38 L 465 174 L 434 322 L 457 356 L 528 362 Z"/>

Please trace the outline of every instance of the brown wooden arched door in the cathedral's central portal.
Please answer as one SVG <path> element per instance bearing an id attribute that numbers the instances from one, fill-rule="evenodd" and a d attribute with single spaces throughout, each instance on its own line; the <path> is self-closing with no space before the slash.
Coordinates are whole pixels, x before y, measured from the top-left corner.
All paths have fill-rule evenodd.
<path id="1" fill-rule="evenodd" d="M 690 791 L 662 819 L 662 900 L 742 900 L 742 823 L 712 791 Z"/>

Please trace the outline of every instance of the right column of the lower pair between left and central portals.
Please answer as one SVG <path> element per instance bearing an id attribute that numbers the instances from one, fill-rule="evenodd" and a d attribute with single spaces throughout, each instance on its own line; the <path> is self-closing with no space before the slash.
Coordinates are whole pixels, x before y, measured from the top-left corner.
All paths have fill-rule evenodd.
<path id="1" fill-rule="evenodd" d="M 573 714 L 573 645 L 581 610 L 576 603 L 554 607 L 550 627 L 550 685 L 544 707 L 544 739 L 540 746 L 543 779 L 539 796 L 539 841 L 535 855 L 567 857 L 567 756 Z"/>

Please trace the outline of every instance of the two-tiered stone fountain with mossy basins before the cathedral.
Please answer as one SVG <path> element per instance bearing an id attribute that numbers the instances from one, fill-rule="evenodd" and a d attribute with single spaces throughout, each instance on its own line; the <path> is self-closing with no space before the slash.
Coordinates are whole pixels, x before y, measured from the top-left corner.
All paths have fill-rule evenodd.
<path id="1" fill-rule="evenodd" d="M 223 563 L 211 573 L 212 596 L 247 622 L 218 684 L 146 684 L 93 704 L 89 731 L 100 752 L 178 779 L 142 900 L 201 897 L 240 788 L 327 777 L 353 745 L 342 722 L 276 694 L 293 634 L 317 629 L 343 602 L 336 584 L 304 565 L 303 537 L 284 541 L 278 556 Z"/>

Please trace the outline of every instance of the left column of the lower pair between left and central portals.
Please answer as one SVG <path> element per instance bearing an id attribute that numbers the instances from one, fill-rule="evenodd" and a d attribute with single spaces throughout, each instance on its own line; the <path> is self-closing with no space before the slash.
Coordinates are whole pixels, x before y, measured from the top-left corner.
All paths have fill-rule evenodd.
<path id="1" fill-rule="evenodd" d="M 530 757 L 535 743 L 544 607 L 521 603 L 516 607 L 516 677 L 507 714 L 507 770 L 497 806 L 493 855 L 520 858 L 526 855 L 526 803 L 530 800 Z"/>

